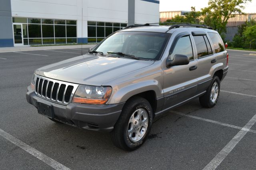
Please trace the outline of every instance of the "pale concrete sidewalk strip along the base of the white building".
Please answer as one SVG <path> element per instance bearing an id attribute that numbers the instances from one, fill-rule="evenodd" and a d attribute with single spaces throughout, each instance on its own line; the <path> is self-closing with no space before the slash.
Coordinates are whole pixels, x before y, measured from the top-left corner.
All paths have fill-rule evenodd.
<path id="1" fill-rule="evenodd" d="M 21 47 L 1 47 L 0 53 L 15 52 L 15 51 L 35 51 L 44 49 L 70 49 L 70 48 L 91 48 L 97 44 L 87 44 L 87 45 L 54 45 L 54 46 L 42 46 L 42 47 L 31 47 L 31 46 L 21 46 Z"/>

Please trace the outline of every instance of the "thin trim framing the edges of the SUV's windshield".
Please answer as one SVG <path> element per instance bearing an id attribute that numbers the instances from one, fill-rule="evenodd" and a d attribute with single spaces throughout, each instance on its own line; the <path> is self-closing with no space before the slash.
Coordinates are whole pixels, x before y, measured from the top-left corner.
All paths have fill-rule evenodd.
<path id="1" fill-rule="evenodd" d="M 116 34 L 116 33 L 118 33 L 118 32 L 121 32 L 120 30 L 118 30 L 118 31 L 116 31 L 116 32 L 113 32 L 112 34 L 110 34 L 109 36 L 107 36 L 106 38 L 104 38 L 100 43 L 98 43 L 95 47 L 93 47 L 92 49 L 91 49 L 91 51 L 94 51 L 95 49 L 97 49 L 98 48 L 98 46 L 100 46 L 107 38 L 109 38 L 110 36 L 112 36 L 112 35 L 114 35 L 114 34 Z M 161 55 L 159 56 L 159 58 L 158 59 L 148 59 L 148 58 L 142 58 L 142 57 L 138 57 L 138 58 L 140 58 L 140 60 L 148 60 L 148 61 L 159 61 L 159 60 L 161 60 L 161 58 L 162 58 L 162 55 L 164 54 L 164 51 L 166 50 L 166 47 L 167 47 L 167 44 L 169 43 L 169 40 L 170 40 L 170 38 L 171 38 L 171 36 L 172 36 L 172 34 L 170 34 L 170 33 L 166 33 L 166 32 L 152 32 L 152 31 L 123 31 L 122 30 L 122 32 L 151 32 L 151 33 L 160 33 L 160 34 L 166 34 L 166 35 L 168 35 L 168 38 L 166 39 L 166 43 L 165 43 L 165 45 L 164 45 L 164 48 L 163 48 L 163 50 L 162 50 L 162 53 L 161 53 Z"/>

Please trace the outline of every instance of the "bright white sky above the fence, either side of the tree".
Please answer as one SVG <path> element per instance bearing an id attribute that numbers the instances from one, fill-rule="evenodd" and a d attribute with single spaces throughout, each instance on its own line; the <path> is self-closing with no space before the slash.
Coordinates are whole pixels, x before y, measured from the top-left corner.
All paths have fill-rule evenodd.
<path id="1" fill-rule="evenodd" d="M 208 0 L 160 0 L 160 12 L 162 11 L 190 11 L 191 6 L 196 7 L 196 11 L 208 6 Z M 244 4 L 245 13 L 256 13 L 256 0 Z"/>

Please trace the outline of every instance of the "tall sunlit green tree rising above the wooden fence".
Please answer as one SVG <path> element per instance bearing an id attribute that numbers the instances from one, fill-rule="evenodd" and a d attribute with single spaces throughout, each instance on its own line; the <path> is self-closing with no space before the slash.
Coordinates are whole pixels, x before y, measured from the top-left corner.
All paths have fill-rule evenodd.
<path id="1" fill-rule="evenodd" d="M 202 8 L 204 23 L 218 30 L 219 34 L 226 33 L 226 25 L 234 14 L 242 14 L 243 4 L 252 0 L 209 0 L 208 7 Z"/>

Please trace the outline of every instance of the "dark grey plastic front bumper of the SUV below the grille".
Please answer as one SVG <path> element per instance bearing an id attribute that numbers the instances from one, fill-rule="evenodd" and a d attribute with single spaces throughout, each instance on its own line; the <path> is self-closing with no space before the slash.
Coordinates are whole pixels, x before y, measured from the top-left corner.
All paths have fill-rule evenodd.
<path id="1" fill-rule="evenodd" d="M 61 105 L 42 99 L 28 86 L 26 99 L 37 108 L 37 101 L 52 105 L 54 119 L 74 127 L 110 132 L 118 120 L 124 103 L 112 105 L 88 105 L 70 103 Z"/>

